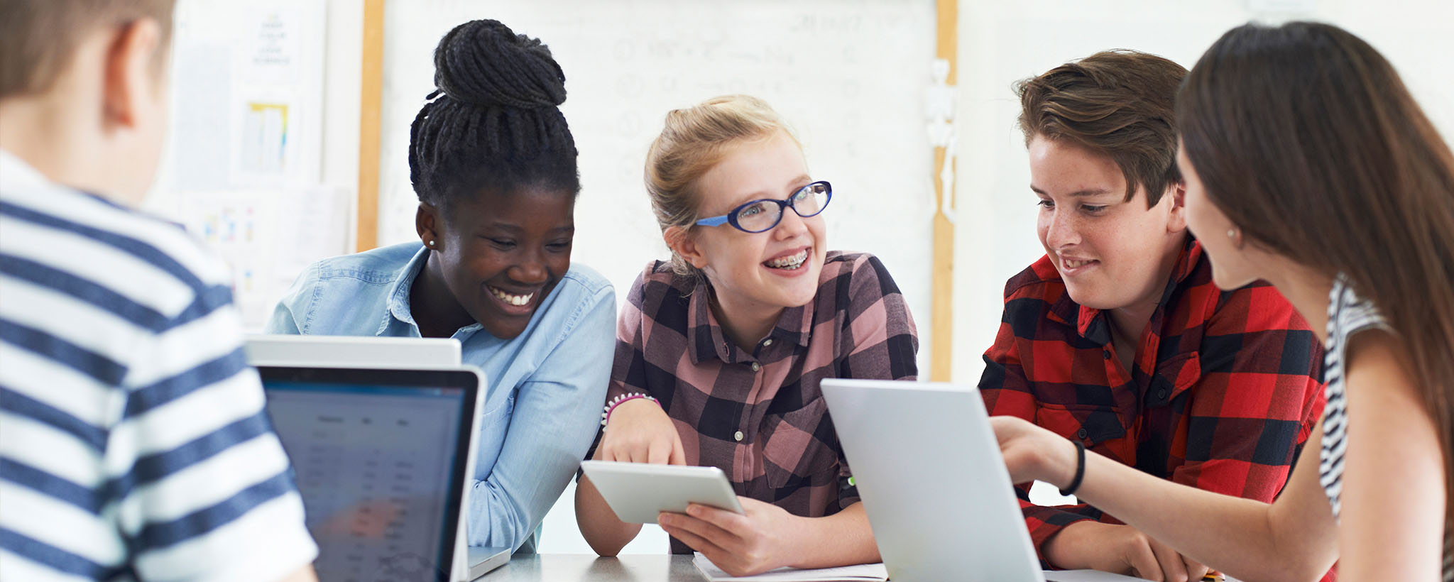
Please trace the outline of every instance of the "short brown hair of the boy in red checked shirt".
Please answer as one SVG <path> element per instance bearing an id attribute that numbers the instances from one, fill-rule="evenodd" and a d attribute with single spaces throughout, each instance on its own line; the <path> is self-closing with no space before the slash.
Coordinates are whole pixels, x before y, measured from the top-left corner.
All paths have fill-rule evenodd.
<path id="1" fill-rule="evenodd" d="M 1146 186 L 1154 207 L 1181 182 L 1176 89 L 1186 68 L 1138 51 L 1102 51 L 1015 83 L 1025 144 L 1035 135 L 1104 153 L 1125 175 L 1125 199 Z"/>

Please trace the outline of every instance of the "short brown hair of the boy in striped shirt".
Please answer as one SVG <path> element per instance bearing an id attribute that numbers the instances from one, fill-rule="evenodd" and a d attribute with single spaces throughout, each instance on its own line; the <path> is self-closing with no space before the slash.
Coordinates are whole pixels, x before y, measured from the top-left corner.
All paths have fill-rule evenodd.
<path id="1" fill-rule="evenodd" d="M 166 47 L 174 6 L 176 0 L 0 0 L 0 99 L 49 90 L 76 45 L 99 26 L 153 17 Z"/>

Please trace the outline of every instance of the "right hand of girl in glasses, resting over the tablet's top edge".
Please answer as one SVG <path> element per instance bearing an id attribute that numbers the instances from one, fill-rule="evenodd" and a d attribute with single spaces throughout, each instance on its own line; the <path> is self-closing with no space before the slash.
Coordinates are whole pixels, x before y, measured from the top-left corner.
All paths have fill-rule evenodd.
<path id="1" fill-rule="evenodd" d="M 595 458 L 599 461 L 686 464 L 682 436 L 666 410 L 647 399 L 627 400 L 611 419 Z"/>

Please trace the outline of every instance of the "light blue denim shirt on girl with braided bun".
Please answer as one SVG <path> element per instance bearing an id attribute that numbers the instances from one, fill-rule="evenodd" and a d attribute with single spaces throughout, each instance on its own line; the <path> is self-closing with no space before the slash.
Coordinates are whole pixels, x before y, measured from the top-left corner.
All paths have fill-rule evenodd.
<path id="1" fill-rule="evenodd" d="M 409 290 L 426 256 L 404 243 L 320 260 L 278 303 L 268 332 L 419 338 Z M 611 282 L 573 263 L 518 338 L 478 323 L 454 333 L 464 364 L 489 383 L 470 546 L 521 549 L 566 489 L 601 428 L 615 322 Z"/>

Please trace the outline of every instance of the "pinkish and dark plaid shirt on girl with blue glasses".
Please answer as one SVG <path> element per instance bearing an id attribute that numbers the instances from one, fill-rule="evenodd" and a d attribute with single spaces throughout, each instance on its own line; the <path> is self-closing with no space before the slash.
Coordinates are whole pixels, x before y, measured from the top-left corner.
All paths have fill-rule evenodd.
<path id="1" fill-rule="evenodd" d="M 608 402 L 660 400 L 686 464 L 720 467 L 737 495 L 801 517 L 856 503 L 819 381 L 917 375 L 919 339 L 888 271 L 872 255 L 829 252 L 813 301 L 782 311 L 750 351 L 723 333 L 711 294 L 667 263 L 647 266 L 621 310 Z M 692 550 L 672 538 L 672 551 Z"/>

